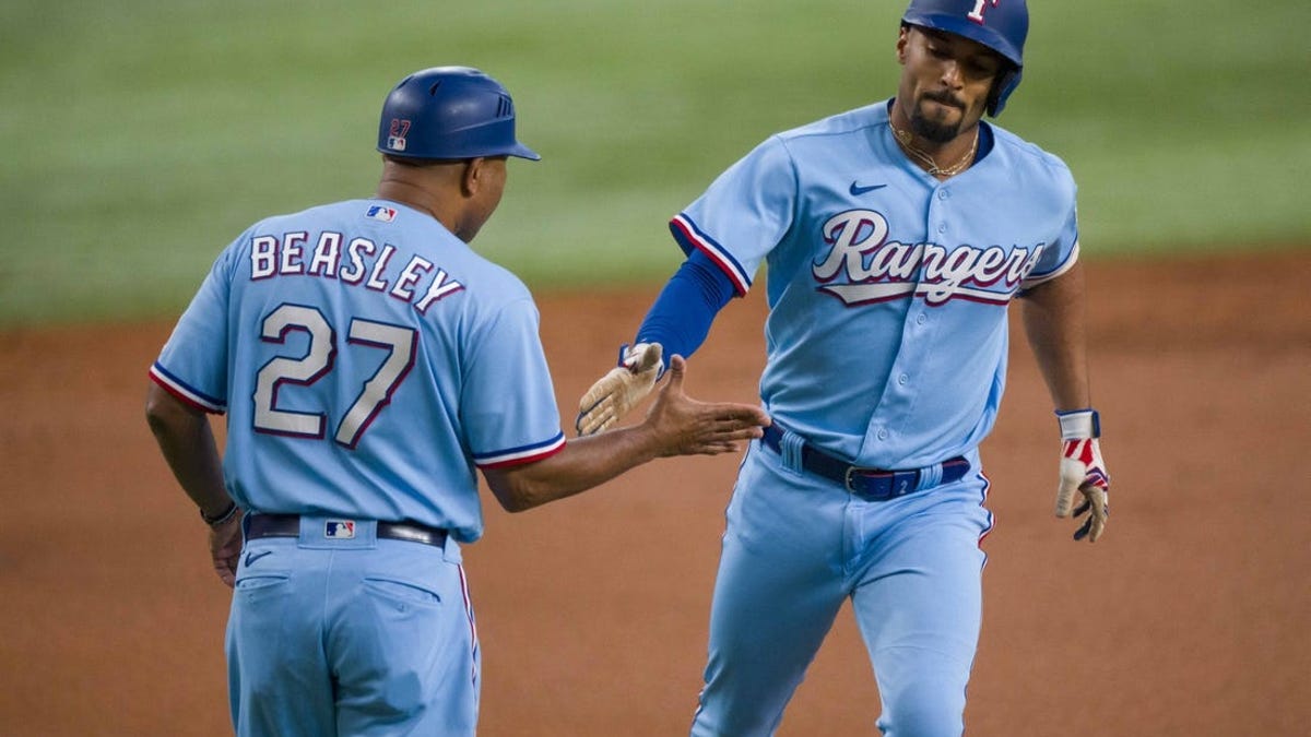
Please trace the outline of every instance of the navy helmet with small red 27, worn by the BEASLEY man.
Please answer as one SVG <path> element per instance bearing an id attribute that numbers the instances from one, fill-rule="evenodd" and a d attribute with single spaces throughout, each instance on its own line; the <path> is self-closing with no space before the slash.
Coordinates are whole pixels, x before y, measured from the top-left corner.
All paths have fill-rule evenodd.
<path id="1" fill-rule="evenodd" d="M 510 92 L 471 67 L 434 67 L 401 80 L 383 102 L 378 149 L 410 159 L 541 159 L 514 136 Z"/>

